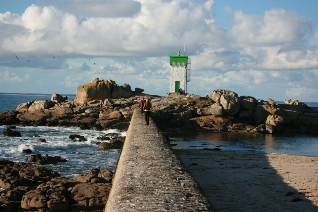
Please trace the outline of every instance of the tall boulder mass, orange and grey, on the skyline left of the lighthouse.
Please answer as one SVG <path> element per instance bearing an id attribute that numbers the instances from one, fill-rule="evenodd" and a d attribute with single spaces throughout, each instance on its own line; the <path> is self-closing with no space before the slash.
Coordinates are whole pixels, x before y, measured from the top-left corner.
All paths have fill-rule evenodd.
<path id="1" fill-rule="evenodd" d="M 130 85 L 126 83 L 119 86 L 113 80 L 105 81 L 96 78 L 91 83 L 80 85 L 76 89 L 75 103 L 83 105 L 85 102 L 93 100 L 104 101 L 105 99 L 128 98 L 134 94 L 141 93 L 143 89 L 136 88 L 135 91 L 133 92 Z"/>

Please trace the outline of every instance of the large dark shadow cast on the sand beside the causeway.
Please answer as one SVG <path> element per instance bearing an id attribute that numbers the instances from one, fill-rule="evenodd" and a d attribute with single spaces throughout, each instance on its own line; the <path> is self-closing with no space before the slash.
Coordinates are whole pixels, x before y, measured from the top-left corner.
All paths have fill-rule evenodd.
<path id="1" fill-rule="evenodd" d="M 265 154 L 174 150 L 218 211 L 318 211 L 284 182 Z"/>

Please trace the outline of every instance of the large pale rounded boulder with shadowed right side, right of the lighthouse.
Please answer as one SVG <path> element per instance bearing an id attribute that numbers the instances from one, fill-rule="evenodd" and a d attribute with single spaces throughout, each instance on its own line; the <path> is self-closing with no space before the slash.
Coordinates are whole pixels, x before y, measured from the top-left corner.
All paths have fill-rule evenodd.
<path id="1" fill-rule="evenodd" d="M 220 98 L 220 104 L 223 107 L 223 113 L 227 115 L 234 115 L 240 110 L 239 97 L 236 95 L 222 94 Z"/>

